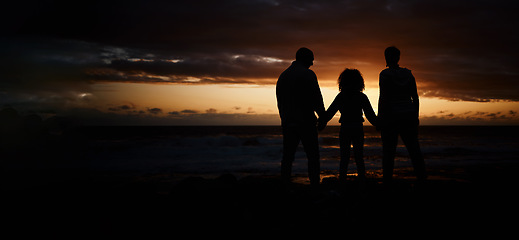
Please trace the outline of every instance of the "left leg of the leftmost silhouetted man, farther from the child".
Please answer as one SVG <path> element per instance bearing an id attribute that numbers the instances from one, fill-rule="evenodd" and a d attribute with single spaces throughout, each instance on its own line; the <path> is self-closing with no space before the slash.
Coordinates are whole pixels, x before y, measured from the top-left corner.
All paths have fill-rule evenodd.
<path id="1" fill-rule="evenodd" d="M 299 145 L 299 133 L 294 127 L 283 127 L 283 159 L 281 160 L 281 178 L 290 181 L 292 175 L 292 163 Z"/>

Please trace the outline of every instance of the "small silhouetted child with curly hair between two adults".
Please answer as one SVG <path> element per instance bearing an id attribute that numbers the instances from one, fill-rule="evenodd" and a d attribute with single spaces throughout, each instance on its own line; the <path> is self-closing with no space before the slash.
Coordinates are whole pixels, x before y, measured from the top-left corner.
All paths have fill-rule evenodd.
<path id="1" fill-rule="evenodd" d="M 357 164 L 359 182 L 364 185 L 366 169 L 364 166 L 364 118 L 362 113 L 371 124 L 376 125 L 377 117 L 364 90 L 364 78 L 357 69 L 346 68 L 338 79 L 339 94 L 326 110 L 325 117 L 319 119 L 319 130 L 324 129 L 337 111 L 341 112 L 341 130 L 339 133 L 341 147 L 341 162 L 339 168 L 339 181 L 346 180 L 348 163 L 350 160 L 350 146 L 353 145 L 353 154 Z"/>

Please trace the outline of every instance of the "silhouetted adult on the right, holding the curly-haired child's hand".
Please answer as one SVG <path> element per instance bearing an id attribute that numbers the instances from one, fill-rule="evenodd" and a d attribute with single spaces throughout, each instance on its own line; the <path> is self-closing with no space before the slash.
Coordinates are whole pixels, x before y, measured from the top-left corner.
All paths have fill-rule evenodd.
<path id="1" fill-rule="evenodd" d="M 382 168 L 384 184 L 393 179 L 395 152 L 398 135 L 402 138 L 417 179 L 426 178 L 425 162 L 418 143 L 419 99 L 416 80 L 407 68 L 398 65 L 400 50 L 388 47 L 384 52 L 387 68 L 380 72 L 380 98 L 378 101 L 378 123 L 382 138 Z"/>

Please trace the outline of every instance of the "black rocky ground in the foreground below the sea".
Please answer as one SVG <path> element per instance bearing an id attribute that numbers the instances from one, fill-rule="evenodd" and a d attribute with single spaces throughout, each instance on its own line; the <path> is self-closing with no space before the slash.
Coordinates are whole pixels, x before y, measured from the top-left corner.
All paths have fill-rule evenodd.
<path id="1" fill-rule="evenodd" d="M 488 175 L 475 174 L 471 182 L 430 180 L 426 186 L 396 179 L 391 189 L 380 179 L 359 189 L 353 178 L 343 185 L 325 178 L 312 187 L 284 185 L 276 176 L 225 174 L 176 183 L 80 176 L 4 188 L 5 229 L 18 236 L 154 238 L 312 231 L 478 235 L 504 234 L 516 225 L 517 187 Z"/>

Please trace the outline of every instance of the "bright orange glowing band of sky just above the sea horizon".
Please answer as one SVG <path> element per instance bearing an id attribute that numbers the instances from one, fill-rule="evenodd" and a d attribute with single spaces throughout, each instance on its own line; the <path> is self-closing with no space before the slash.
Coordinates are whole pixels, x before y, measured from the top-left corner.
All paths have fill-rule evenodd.
<path id="1" fill-rule="evenodd" d="M 325 107 L 328 107 L 338 89 L 336 86 L 321 86 L 321 92 Z M 378 87 L 367 87 L 364 93 L 377 112 Z M 263 115 L 270 119 L 265 120 L 264 124 L 279 124 L 275 85 L 102 83 L 94 85 L 92 94 L 96 108 L 104 112 L 109 112 L 111 107 L 127 104 L 132 106 L 134 112 L 161 109 L 160 113 L 154 115 L 157 117 L 168 117 L 168 113 L 183 111 L 249 117 Z M 466 102 L 421 97 L 420 105 L 421 121 L 426 125 L 519 124 L 517 102 Z M 337 113 L 329 125 L 338 125 L 339 117 L 340 113 Z M 209 118 L 207 121 L 211 123 Z M 261 125 L 258 122 L 255 124 Z M 370 123 L 366 121 L 365 125 Z"/>

